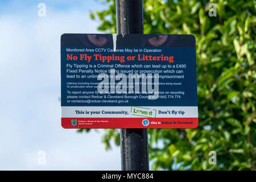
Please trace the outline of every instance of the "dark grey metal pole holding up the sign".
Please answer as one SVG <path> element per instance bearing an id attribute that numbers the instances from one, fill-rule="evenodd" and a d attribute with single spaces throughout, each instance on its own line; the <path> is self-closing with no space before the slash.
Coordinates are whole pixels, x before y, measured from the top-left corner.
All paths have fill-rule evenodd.
<path id="1" fill-rule="evenodd" d="M 117 34 L 143 34 L 143 0 L 115 0 Z M 121 129 L 123 171 L 149 170 L 147 129 Z"/>

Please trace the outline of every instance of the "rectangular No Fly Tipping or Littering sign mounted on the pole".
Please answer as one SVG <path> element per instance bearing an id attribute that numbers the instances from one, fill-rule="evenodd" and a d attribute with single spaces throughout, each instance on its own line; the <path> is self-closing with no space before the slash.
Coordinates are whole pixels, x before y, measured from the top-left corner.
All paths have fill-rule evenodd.
<path id="1" fill-rule="evenodd" d="M 64 128 L 195 128 L 193 35 L 61 35 Z"/>

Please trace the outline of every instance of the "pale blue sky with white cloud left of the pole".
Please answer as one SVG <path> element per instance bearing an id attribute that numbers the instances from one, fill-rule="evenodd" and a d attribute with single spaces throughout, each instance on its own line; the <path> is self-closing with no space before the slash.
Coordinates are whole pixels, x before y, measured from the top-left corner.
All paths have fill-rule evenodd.
<path id="1" fill-rule="evenodd" d="M 46 17 L 38 4 L 46 4 Z M 60 125 L 60 35 L 96 33 L 98 1 L 0 1 L 0 169 L 119 170 L 119 147 L 105 151 L 103 131 Z M 38 152 L 46 164 L 38 164 Z"/>

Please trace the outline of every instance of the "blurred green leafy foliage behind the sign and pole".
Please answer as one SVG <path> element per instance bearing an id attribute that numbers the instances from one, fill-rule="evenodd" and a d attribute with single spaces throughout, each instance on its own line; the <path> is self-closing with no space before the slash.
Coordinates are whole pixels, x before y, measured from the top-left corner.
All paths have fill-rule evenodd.
<path id="1" fill-rule="evenodd" d="M 210 17 L 209 3 L 217 16 Z M 115 2 L 105 0 L 98 30 L 115 33 Z M 255 170 L 255 1 L 144 0 L 145 34 L 196 37 L 199 126 L 149 129 L 152 169 Z M 104 142 L 119 145 L 119 131 L 105 130 Z M 217 165 L 208 163 L 217 152 Z"/>

